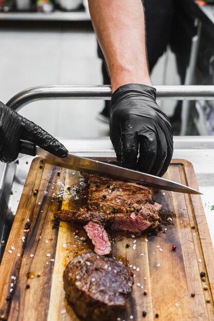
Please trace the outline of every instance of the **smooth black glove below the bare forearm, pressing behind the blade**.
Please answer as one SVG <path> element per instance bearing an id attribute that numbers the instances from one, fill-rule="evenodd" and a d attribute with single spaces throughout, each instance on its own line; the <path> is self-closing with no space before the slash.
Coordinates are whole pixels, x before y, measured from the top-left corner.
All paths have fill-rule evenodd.
<path id="1" fill-rule="evenodd" d="M 155 93 L 153 87 L 128 84 L 112 94 L 110 139 L 118 165 L 162 176 L 172 157 L 173 135 Z"/>

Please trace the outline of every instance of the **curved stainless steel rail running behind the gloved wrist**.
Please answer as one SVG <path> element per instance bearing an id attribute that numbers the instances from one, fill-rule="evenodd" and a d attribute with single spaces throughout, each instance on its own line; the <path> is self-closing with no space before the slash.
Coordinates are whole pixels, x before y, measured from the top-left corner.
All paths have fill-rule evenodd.
<path id="1" fill-rule="evenodd" d="M 214 86 L 154 86 L 158 99 L 214 99 Z M 7 103 L 18 111 L 23 106 L 42 99 L 110 99 L 110 86 L 51 85 L 25 89 Z"/>

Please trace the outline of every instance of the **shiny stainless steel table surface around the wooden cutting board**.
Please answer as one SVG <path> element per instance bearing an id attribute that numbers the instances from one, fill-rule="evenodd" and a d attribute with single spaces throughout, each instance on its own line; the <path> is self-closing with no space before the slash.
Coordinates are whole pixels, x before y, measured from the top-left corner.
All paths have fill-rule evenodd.
<path id="1" fill-rule="evenodd" d="M 108 137 L 98 139 L 60 139 L 69 152 L 86 157 L 115 157 Z M 214 137 L 212 136 L 176 136 L 174 137 L 173 158 L 189 160 L 194 167 L 206 218 L 214 244 Z M 33 157 L 21 154 L 16 162 L 0 163 L 0 260 L 7 237 L 17 210 L 25 180 Z M 12 192 L 11 192 L 12 191 Z M 2 244 L 2 241 L 5 244 Z M 4 243 L 4 242 L 3 242 Z"/>

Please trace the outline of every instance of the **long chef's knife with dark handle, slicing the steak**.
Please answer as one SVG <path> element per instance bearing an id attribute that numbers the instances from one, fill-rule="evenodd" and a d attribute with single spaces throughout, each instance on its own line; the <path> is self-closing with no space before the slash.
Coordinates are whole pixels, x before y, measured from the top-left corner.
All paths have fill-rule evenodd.
<path id="1" fill-rule="evenodd" d="M 60 166 L 68 169 L 73 169 L 79 172 L 90 174 L 110 175 L 119 179 L 128 180 L 129 182 L 141 183 L 145 186 L 158 188 L 167 191 L 202 194 L 188 186 L 172 182 L 162 177 L 153 176 L 150 174 L 126 169 L 120 166 L 99 162 L 85 157 L 68 154 L 65 158 L 54 156 L 44 149 L 35 146 L 35 144 L 28 141 L 21 141 L 21 153 L 31 156 L 41 156 L 44 163 Z"/>

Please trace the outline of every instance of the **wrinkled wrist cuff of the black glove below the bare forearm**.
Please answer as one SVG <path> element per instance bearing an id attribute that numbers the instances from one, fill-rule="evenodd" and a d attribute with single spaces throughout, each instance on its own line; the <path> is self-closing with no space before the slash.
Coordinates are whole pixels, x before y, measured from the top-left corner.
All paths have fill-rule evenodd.
<path id="1" fill-rule="evenodd" d="M 121 95 L 123 96 L 126 93 L 132 93 L 135 95 L 143 94 L 150 97 L 155 101 L 156 99 L 156 89 L 151 86 L 143 84 L 127 84 L 116 89 L 111 96 L 111 103 L 115 103 L 115 100 L 118 99 Z"/>

